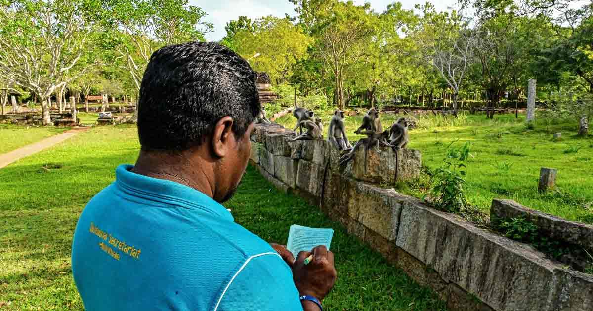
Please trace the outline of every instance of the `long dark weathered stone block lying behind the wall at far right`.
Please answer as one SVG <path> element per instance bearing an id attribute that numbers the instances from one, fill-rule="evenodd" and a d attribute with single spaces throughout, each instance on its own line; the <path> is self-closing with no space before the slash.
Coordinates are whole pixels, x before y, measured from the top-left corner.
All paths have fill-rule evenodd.
<path id="1" fill-rule="evenodd" d="M 492 200 L 492 206 L 490 207 L 492 226 L 499 227 L 503 221 L 517 217 L 532 222 L 537 226 L 540 235 L 579 245 L 586 249 L 593 249 L 593 225 L 570 222 L 551 214 L 528 209 L 512 200 Z"/>

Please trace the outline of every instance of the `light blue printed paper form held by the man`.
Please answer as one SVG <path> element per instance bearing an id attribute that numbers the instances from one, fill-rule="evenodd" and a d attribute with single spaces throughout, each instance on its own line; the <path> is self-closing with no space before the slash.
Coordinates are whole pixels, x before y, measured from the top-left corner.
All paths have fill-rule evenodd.
<path id="1" fill-rule="evenodd" d="M 315 246 L 325 245 L 327 249 L 330 249 L 332 237 L 333 229 L 331 228 L 311 228 L 292 225 L 288 233 L 286 249 L 297 258 L 299 252 L 310 252 Z"/>

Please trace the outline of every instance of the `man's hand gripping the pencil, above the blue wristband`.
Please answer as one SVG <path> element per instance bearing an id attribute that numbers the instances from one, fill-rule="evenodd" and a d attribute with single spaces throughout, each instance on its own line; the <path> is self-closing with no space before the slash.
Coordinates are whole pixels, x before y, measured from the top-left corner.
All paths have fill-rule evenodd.
<path id="1" fill-rule="evenodd" d="M 313 260 L 305 265 L 305 258 L 311 252 L 302 251 L 292 265 L 292 278 L 301 296 L 313 296 L 323 300 L 336 283 L 337 272 L 334 268 L 333 253 L 326 246 L 320 245 L 312 250 Z"/>

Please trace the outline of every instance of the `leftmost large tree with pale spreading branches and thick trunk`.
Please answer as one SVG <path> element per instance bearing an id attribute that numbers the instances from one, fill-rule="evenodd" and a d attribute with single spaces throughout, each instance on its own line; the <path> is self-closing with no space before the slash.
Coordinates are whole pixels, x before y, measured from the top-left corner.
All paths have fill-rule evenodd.
<path id="1" fill-rule="evenodd" d="M 92 24 L 78 0 L 18 0 L 0 5 L 0 76 L 36 94 L 43 125 L 51 124 L 47 98 L 84 74 Z"/>

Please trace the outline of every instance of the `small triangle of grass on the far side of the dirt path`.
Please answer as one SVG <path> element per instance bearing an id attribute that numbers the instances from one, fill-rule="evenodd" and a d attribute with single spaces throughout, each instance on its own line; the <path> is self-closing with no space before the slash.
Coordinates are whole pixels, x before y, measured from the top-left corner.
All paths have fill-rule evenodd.
<path id="1" fill-rule="evenodd" d="M 0 154 L 21 148 L 30 143 L 60 134 L 69 127 L 38 127 L 0 124 Z"/>

